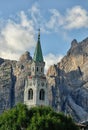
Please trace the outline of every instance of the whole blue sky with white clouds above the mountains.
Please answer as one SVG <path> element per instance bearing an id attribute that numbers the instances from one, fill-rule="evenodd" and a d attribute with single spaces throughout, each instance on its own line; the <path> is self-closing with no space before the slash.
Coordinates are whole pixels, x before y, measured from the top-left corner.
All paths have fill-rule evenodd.
<path id="1" fill-rule="evenodd" d="M 0 57 L 33 56 L 39 28 L 47 70 L 88 37 L 88 0 L 0 0 Z"/>

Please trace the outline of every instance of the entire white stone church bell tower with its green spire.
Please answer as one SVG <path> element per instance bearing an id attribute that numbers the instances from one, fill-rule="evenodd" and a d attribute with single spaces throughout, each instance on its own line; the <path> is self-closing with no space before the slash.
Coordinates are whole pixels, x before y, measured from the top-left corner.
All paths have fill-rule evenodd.
<path id="1" fill-rule="evenodd" d="M 45 62 L 43 60 L 40 44 L 40 32 L 31 64 L 31 76 L 28 76 L 24 90 L 24 103 L 29 107 L 48 106 L 48 84 L 44 74 Z"/>

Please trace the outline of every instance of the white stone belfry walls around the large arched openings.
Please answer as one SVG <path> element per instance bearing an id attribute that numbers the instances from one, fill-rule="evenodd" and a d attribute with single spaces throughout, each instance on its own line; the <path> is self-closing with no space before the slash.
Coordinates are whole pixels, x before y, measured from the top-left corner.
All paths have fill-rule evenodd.
<path id="1" fill-rule="evenodd" d="M 28 92 L 29 90 L 33 90 L 33 99 L 28 99 Z M 41 97 L 40 91 L 44 91 L 44 99 Z M 40 79 L 40 78 L 34 78 L 34 79 L 28 79 L 25 91 L 24 91 L 24 103 L 28 105 L 28 107 L 32 106 L 42 106 L 42 105 L 48 105 L 48 91 L 47 91 L 47 81 L 46 79 Z"/>

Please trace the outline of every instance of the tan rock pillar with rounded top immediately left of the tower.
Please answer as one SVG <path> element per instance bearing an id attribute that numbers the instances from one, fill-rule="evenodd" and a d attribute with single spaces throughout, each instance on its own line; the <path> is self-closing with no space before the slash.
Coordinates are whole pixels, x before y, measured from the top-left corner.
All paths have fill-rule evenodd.
<path id="1" fill-rule="evenodd" d="M 30 75 L 32 57 L 29 52 L 25 52 L 19 61 L 16 63 L 14 75 L 16 76 L 15 83 L 15 104 L 24 100 L 25 79 Z"/>

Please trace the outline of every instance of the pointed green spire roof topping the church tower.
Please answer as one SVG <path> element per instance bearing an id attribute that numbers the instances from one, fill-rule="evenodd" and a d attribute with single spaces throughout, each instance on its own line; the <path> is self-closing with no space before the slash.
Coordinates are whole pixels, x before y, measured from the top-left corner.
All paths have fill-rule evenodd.
<path id="1" fill-rule="evenodd" d="M 39 33 L 38 33 L 38 41 L 37 41 L 37 45 L 35 48 L 33 61 L 43 62 L 42 49 L 41 49 L 41 44 L 40 44 L 40 29 L 39 29 Z"/>

